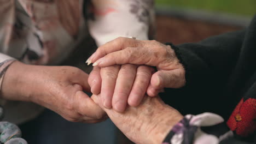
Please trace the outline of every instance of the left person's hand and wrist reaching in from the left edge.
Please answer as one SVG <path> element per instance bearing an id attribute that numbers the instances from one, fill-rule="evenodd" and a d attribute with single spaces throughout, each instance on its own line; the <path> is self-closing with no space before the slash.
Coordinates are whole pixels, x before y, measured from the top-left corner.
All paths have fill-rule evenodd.
<path id="1" fill-rule="evenodd" d="M 49 67 L 14 62 L 5 73 L 1 97 L 31 101 L 72 122 L 95 123 L 106 113 L 83 91 L 90 91 L 88 74 L 74 67 Z"/>

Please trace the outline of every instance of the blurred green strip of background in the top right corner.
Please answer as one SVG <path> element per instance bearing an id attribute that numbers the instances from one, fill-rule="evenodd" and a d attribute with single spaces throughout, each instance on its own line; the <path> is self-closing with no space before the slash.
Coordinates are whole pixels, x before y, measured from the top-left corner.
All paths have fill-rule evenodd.
<path id="1" fill-rule="evenodd" d="M 256 0 L 155 0 L 156 7 L 178 7 L 229 13 L 251 17 L 256 14 Z"/>

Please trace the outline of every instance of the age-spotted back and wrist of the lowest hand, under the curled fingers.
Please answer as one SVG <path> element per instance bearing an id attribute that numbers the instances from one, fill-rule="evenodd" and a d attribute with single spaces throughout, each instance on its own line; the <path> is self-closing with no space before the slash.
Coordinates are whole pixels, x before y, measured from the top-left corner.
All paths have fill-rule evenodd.
<path id="1" fill-rule="evenodd" d="M 166 105 L 159 97 L 152 98 L 146 95 L 141 105 L 129 106 L 123 113 L 104 108 L 100 103 L 100 95 L 92 95 L 91 98 L 135 143 L 161 143 L 172 127 L 183 118 L 181 113 Z"/>

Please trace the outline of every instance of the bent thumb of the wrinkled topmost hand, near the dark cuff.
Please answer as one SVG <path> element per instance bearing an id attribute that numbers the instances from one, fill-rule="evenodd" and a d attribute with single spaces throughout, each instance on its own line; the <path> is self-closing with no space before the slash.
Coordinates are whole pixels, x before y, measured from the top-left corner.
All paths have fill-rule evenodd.
<path id="1" fill-rule="evenodd" d="M 155 89 L 181 88 L 185 85 L 185 75 L 181 69 L 159 70 L 152 75 L 150 84 Z"/>

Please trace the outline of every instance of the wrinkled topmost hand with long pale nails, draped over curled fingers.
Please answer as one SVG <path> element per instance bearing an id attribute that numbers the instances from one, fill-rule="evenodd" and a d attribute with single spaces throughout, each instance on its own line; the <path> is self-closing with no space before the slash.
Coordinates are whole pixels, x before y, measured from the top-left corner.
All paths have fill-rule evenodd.
<path id="1" fill-rule="evenodd" d="M 99 47 L 89 58 L 95 67 L 115 64 L 138 64 L 156 67 L 147 94 L 157 95 L 164 87 L 180 88 L 185 85 L 185 70 L 169 45 L 158 41 L 117 38 Z"/>

